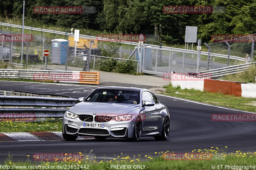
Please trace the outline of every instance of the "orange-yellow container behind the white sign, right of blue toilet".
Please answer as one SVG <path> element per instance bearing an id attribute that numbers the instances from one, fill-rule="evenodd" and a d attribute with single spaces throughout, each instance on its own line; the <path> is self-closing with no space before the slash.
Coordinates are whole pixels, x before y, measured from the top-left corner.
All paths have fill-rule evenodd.
<path id="1" fill-rule="evenodd" d="M 69 47 L 75 47 L 75 41 L 74 41 L 74 37 L 68 36 L 68 40 L 69 40 Z M 88 38 L 88 39 L 84 39 L 84 38 L 79 38 L 79 41 L 76 42 L 76 48 L 83 48 L 85 49 L 84 45 L 87 48 L 90 48 L 90 42 L 94 41 L 91 45 L 91 48 L 97 48 L 98 47 L 98 40 L 97 39 L 93 39 L 93 38 Z"/>

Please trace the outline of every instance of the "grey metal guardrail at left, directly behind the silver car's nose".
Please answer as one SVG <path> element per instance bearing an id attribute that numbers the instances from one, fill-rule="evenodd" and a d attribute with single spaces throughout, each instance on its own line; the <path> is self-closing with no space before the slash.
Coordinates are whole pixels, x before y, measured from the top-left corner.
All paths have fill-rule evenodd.
<path id="1" fill-rule="evenodd" d="M 0 106 L 2 107 L 0 108 L 0 120 L 6 114 L 13 114 L 16 117 L 17 115 L 34 114 L 35 118 L 61 118 L 68 107 L 76 104 L 76 100 L 73 98 L 0 95 Z"/>

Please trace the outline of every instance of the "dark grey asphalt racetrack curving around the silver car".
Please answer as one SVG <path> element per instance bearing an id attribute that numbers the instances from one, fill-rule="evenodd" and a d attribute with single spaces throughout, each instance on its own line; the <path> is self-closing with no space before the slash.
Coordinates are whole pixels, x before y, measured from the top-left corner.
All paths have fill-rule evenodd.
<path id="1" fill-rule="evenodd" d="M 18 90 L 20 88 L 27 92 L 65 95 L 73 98 L 87 96 L 97 87 L 3 81 L 0 82 L 0 86 L 6 90 L 20 91 Z M 74 142 L 64 140 L 1 142 L 0 162 L 3 162 L 9 153 L 12 160 L 24 161 L 33 159 L 35 153 L 84 153 L 85 151 L 88 153 L 91 150 L 100 159 L 121 156 L 121 153 L 130 157 L 138 154 L 144 157 L 144 155 L 154 156 L 154 152 L 184 153 L 194 149 L 224 148 L 225 146 L 228 147 L 227 152 L 256 151 L 254 144 L 256 122 L 214 122 L 211 120 L 212 114 L 238 114 L 245 113 L 244 111 L 164 95 L 157 95 L 157 97 L 168 107 L 171 114 L 171 133 L 167 141 L 155 141 L 153 137 L 142 137 L 139 142 L 111 138 L 104 142 L 95 139 L 82 139 Z"/>

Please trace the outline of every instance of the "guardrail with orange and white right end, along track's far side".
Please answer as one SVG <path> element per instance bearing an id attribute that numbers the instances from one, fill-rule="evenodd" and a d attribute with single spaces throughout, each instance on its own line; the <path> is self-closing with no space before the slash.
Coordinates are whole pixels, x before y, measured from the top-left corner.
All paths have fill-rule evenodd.
<path id="1" fill-rule="evenodd" d="M 61 83 L 100 84 L 100 72 L 0 69 L 0 78 L 25 78 Z"/>

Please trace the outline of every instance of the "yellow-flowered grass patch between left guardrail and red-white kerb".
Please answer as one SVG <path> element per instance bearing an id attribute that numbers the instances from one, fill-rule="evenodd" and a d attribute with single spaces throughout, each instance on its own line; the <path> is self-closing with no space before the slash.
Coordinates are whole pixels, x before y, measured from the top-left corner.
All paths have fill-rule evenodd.
<path id="1" fill-rule="evenodd" d="M 0 121 L 1 132 L 44 132 L 61 131 L 62 119 L 45 120 L 38 122 Z"/>

